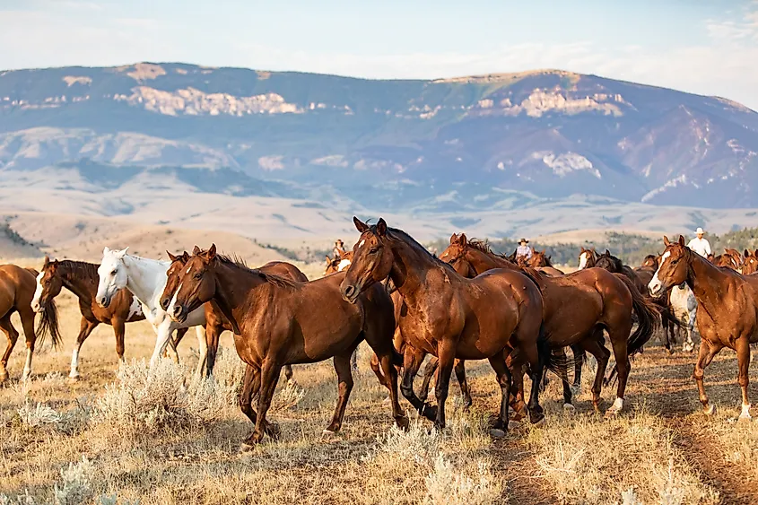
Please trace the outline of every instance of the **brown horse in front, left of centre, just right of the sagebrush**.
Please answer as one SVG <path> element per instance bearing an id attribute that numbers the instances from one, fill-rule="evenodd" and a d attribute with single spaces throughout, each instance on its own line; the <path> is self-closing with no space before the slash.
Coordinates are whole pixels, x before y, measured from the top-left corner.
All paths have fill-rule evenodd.
<path id="1" fill-rule="evenodd" d="M 377 284 L 354 303 L 348 303 L 339 289 L 343 273 L 296 283 L 217 255 L 215 245 L 189 257 L 179 272 L 179 289 L 162 295 L 173 297 L 167 309 L 170 317 L 182 321 L 213 300 L 214 307 L 233 328 L 237 353 L 248 364 L 240 408 L 255 422 L 255 430 L 245 444 L 256 444 L 264 433 L 278 436 L 278 429 L 266 422 L 266 413 L 283 365 L 331 357 L 339 381 L 339 398 L 326 431 L 338 431 L 353 389 L 350 356 L 364 339 L 379 356 L 382 372 L 392 383 L 395 421 L 401 427 L 407 426 L 408 419 L 397 401 L 397 371 L 393 366 L 401 360 L 392 344 L 394 309 L 384 286 Z M 252 408 L 256 394 L 257 413 Z"/>

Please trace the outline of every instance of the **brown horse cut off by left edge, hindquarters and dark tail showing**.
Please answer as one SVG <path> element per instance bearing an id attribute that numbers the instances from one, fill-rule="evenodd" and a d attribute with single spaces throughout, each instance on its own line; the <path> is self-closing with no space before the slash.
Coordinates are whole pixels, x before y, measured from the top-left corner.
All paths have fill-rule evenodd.
<path id="1" fill-rule="evenodd" d="M 8 346 L 0 360 L 0 382 L 8 379 L 8 359 L 19 337 L 19 332 L 11 323 L 13 313 L 19 313 L 23 335 L 26 339 L 26 362 L 22 380 L 28 379 L 31 374 L 31 355 L 38 343 L 38 337 L 40 347 L 48 333 L 52 338 L 53 346 L 57 347 L 60 344 L 57 307 L 54 300 L 48 300 L 47 304 L 41 308 L 39 323 L 36 329 L 34 327 L 34 310 L 31 309 L 31 300 L 34 298 L 38 274 L 33 268 L 0 265 L 0 329 L 8 338 Z"/>

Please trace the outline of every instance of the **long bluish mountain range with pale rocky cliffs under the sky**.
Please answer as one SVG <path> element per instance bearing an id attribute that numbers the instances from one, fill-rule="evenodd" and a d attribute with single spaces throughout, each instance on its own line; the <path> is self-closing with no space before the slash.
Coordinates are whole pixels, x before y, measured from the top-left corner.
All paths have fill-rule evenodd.
<path id="1" fill-rule="evenodd" d="M 14 70 L 0 72 L 0 172 L 58 192 L 141 184 L 428 215 L 578 198 L 750 208 L 758 113 L 558 70 L 431 81 L 175 63 Z"/>

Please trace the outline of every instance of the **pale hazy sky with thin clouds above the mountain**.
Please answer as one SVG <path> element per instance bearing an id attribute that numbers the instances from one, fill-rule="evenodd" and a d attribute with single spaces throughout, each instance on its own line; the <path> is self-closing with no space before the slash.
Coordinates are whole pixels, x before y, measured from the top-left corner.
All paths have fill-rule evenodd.
<path id="1" fill-rule="evenodd" d="M 0 0 L 0 68 L 181 61 L 373 78 L 561 68 L 758 109 L 754 0 Z"/>

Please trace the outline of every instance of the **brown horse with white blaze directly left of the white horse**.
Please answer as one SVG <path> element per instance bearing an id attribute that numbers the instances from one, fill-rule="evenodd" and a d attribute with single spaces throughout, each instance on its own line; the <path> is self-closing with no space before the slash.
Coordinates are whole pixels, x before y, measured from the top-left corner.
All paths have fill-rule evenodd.
<path id="1" fill-rule="evenodd" d="M 79 335 L 76 337 L 76 347 L 71 355 L 71 371 L 68 374 L 69 379 L 77 380 L 79 374 L 79 353 L 82 351 L 82 345 L 92 330 L 105 323 L 113 327 L 113 334 L 116 336 L 116 353 L 118 360 L 124 361 L 124 335 L 126 323 L 133 321 L 142 321 L 142 305 L 135 300 L 132 293 L 126 289 L 119 291 L 107 309 L 103 309 L 95 301 L 95 294 L 98 291 L 98 266 L 94 263 L 85 263 L 83 261 L 50 261 L 45 257 L 45 263 L 42 271 L 37 277 L 37 289 L 34 292 L 34 299 L 31 301 L 31 308 L 39 312 L 42 308 L 47 307 L 49 302 L 60 294 L 61 289 L 65 287 L 76 295 L 79 300 L 79 311 L 82 313 L 82 320 L 79 324 Z M 183 335 L 187 328 L 182 328 L 177 332 Z"/>

